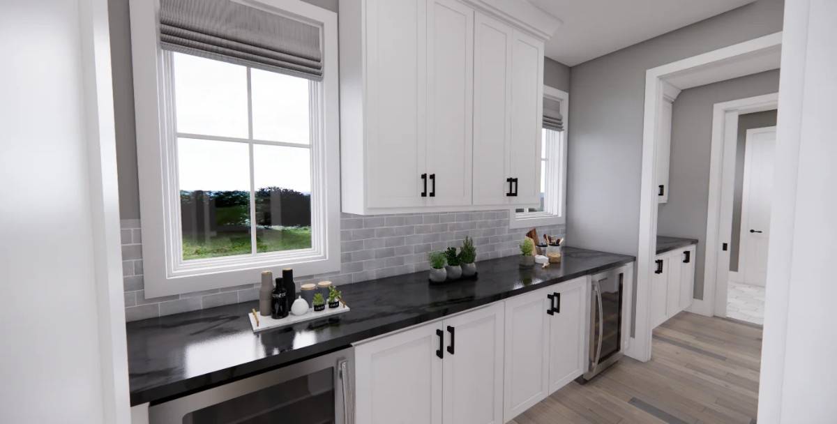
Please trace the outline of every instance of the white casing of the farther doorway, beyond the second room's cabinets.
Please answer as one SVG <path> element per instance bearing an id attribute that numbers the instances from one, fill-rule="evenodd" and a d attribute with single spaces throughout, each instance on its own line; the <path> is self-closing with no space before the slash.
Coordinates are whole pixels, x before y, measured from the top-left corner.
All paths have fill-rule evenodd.
<path id="1" fill-rule="evenodd" d="M 735 186 L 738 115 L 773 110 L 777 107 L 777 93 L 716 103 L 712 107 L 703 300 L 693 303 L 689 309 L 691 312 L 706 316 L 727 316 L 728 277 L 722 278 L 722 274 L 723 270 L 729 269 L 732 248 L 737 248 L 732 246 L 732 197 Z M 721 250 L 721 243 L 728 243 L 729 250 Z"/>

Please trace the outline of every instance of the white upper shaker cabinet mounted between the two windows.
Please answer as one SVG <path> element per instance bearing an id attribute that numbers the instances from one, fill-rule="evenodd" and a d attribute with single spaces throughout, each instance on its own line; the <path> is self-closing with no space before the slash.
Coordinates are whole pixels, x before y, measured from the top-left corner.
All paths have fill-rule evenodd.
<path id="1" fill-rule="evenodd" d="M 340 2 L 343 212 L 537 206 L 544 40 L 489 3 Z"/>

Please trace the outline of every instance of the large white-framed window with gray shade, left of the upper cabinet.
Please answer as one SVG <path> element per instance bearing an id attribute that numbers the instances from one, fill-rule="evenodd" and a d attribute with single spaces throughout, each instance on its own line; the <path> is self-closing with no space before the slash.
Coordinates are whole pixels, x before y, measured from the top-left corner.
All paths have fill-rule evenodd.
<path id="1" fill-rule="evenodd" d="M 131 18 L 146 297 L 339 269 L 335 13 L 159 0 Z"/>

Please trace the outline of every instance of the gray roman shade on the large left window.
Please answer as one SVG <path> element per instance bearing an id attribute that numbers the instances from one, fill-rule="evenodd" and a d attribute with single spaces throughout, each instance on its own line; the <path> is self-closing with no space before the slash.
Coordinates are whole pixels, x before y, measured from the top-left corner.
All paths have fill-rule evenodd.
<path id="1" fill-rule="evenodd" d="M 320 28 L 229 0 L 161 0 L 163 49 L 322 79 Z"/>

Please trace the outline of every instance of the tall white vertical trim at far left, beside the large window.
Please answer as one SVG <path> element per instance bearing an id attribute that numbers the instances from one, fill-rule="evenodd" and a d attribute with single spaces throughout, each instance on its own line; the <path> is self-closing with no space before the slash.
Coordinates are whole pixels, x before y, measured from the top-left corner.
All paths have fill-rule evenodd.
<path id="1" fill-rule="evenodd" d="M 85 126 L 99 316 L 102 419 L 131 424 L 107 1 L 80 0 L 79 21 L 85 65 Z M 96 420 L 90 417 L 90 421 Z"/>

